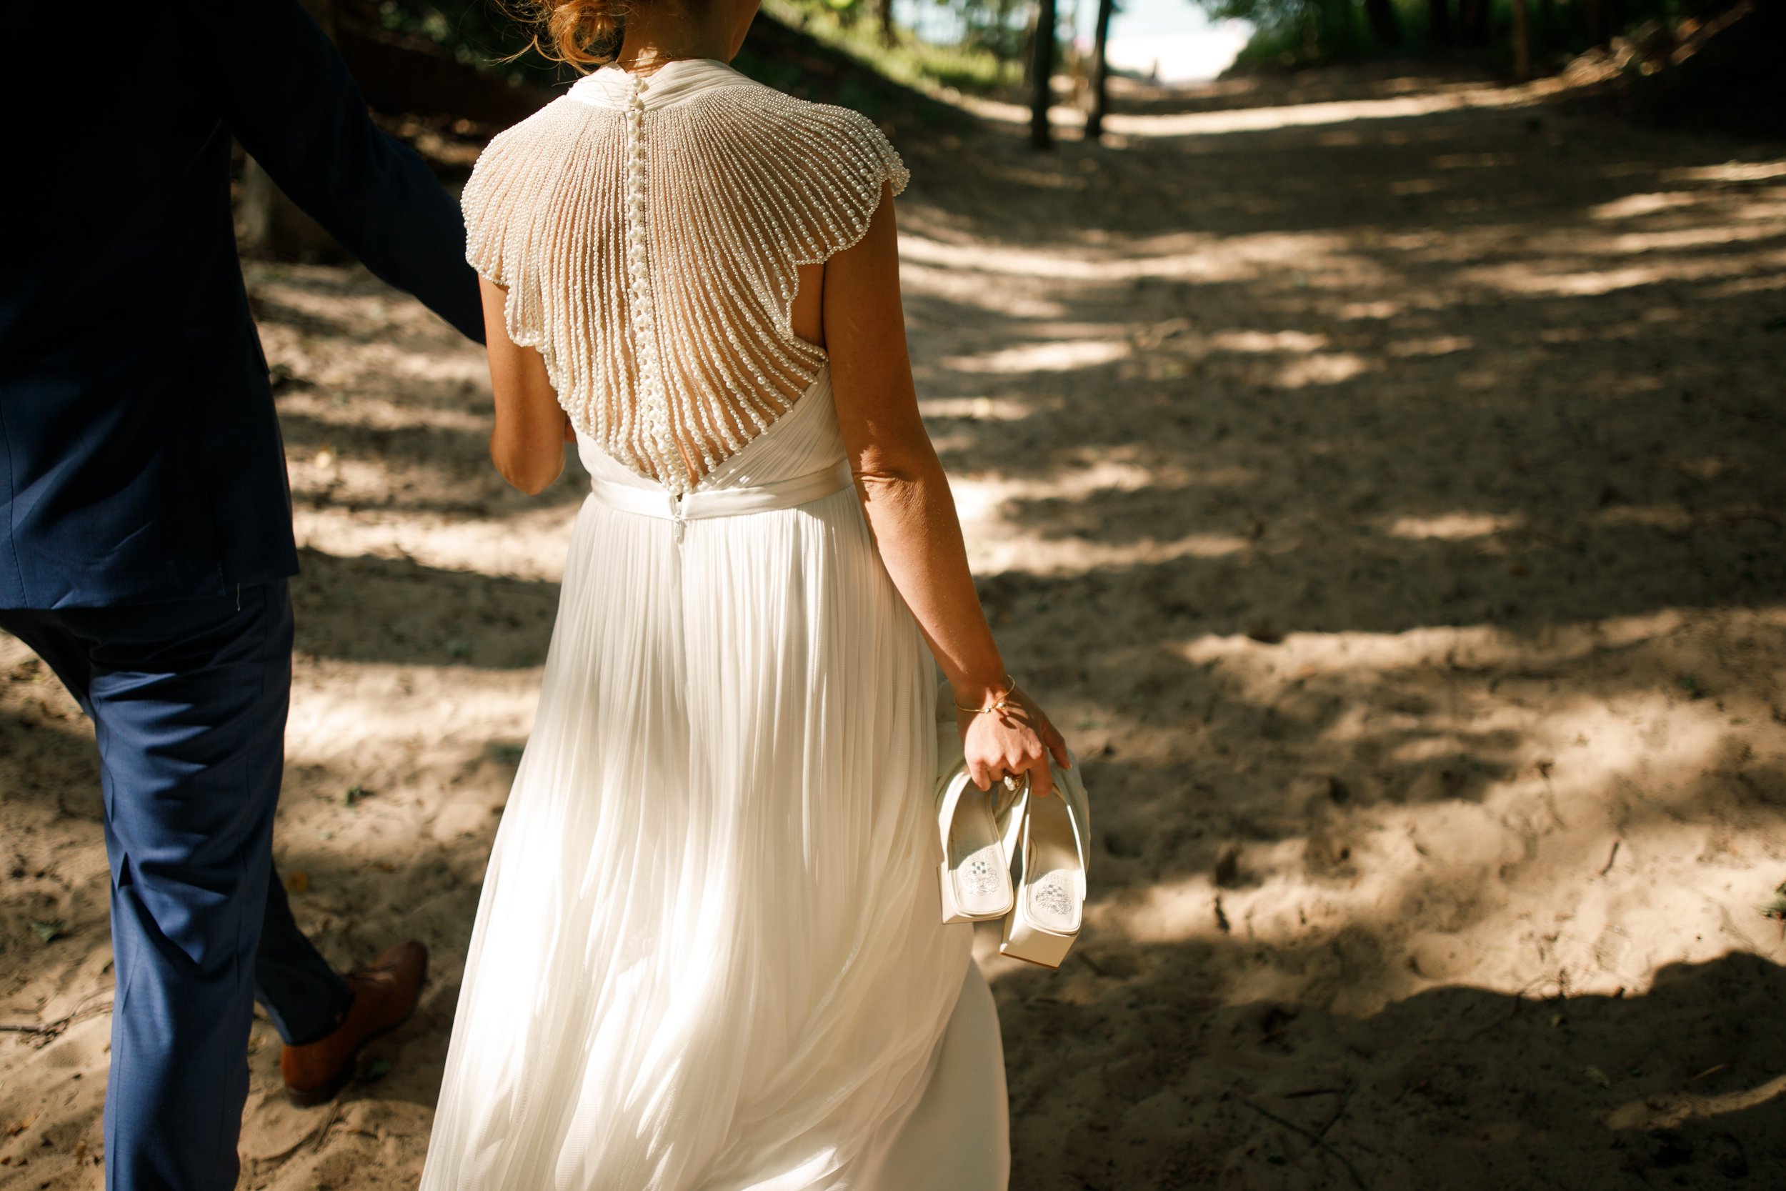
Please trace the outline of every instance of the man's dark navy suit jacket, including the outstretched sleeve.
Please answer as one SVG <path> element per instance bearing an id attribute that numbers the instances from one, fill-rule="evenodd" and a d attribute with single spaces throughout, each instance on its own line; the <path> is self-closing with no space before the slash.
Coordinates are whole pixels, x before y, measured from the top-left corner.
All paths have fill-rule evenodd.
<path id="1" fill-rule="evenodd" d="M 230 136 L 341 245 L 482 339 L 459 207 L 298 0 L 23 4 L 0 191 L 0 607 L 295 575 L 230 212 Z M 104 46 L 104 57 L 96 57 Z M 98 62 L 86 66 L 86 62 Z"/>

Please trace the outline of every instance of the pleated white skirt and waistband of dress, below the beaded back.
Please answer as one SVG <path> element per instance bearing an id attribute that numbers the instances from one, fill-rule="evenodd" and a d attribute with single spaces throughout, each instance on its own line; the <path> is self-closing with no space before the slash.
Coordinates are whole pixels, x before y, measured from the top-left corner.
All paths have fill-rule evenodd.
<path id="1" fill-rule="evenodd" d="M 423 1191 L 1002 1191 L 998 1021 L 938 914 L 934 666 L 855 493 L 677 523 L 580 450 Z M 841 459 L 822 373 L 702 491 Z"/>

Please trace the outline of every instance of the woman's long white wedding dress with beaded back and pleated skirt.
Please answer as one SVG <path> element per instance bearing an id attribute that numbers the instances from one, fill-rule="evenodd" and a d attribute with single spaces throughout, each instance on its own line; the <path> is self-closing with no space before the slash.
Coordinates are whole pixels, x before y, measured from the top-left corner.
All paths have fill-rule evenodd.
<path id="1" fill-rule="evenodd" d="M 682 61 L 589 75 L 466 187 L 593 491 L 423 1191 L 1006 1186 L 934 666 L 788 321 L 904 179 L 861 116 Z"/>

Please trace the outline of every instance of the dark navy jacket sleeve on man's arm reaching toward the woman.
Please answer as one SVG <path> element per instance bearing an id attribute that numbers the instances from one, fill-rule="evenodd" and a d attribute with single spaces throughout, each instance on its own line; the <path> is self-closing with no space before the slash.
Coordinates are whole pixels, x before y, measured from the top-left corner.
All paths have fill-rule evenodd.
<path id="1" fill-rule="evenodd" d="M 366 268 L 482 343 L 459 205 L 371 121 L 298 0 L 177 0 L 175 12 L 200 89 L 279 187 Z"/>

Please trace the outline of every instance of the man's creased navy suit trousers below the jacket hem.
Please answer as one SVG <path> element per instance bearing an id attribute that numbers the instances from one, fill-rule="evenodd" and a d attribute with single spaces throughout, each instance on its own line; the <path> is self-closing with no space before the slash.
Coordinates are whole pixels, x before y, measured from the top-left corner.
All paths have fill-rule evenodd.
<path id="1" fill-rule="evenodd" d="M 284 580 L 221 598 L 0 611 L 93 718 L 111 857 L 111 1191 L 230 1191 L 254 1000 L 288 1043 L 352 1000 L 273 871 L 291 702 Z"/>

